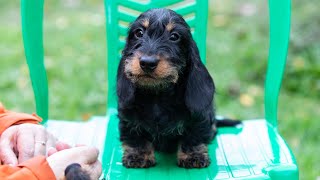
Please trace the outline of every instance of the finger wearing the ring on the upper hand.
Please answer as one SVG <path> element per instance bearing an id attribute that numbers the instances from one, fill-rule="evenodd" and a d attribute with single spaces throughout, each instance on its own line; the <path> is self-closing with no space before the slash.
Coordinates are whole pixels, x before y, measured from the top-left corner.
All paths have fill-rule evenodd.
<path id="1" fill-rule="evenodd" d="M 47 131 L 40 126 L 35 129 L 34 156 L 45 156 L 47 149 Z"/>

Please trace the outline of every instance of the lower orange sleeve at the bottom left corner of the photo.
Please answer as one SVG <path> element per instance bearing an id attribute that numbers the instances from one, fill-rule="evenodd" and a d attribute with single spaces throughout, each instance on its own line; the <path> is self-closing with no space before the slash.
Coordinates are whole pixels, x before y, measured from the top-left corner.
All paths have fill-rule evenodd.
<path id="1" fill-rule="evenodd" d="M 37 156 L 18 166 L 0 165 L 0 179 L 6 180 L 55 180 L 44 156 Z"/>

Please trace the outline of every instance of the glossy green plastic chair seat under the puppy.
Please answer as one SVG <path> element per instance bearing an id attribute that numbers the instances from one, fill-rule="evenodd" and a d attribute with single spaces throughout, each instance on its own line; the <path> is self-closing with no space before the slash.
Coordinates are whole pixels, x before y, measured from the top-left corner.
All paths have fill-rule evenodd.
<path id="1" fill-rule="evenodd" d="M 295 159 L 278 132 L 265 120 L 247 120 L 241 127 L 219 128 L 209 146 L 211 165 L 204 169 L 176 166 L 176 155 L 156 154 L 149 169 L 122 166 L 118 117 L 93 117 L 88 122 L 49 121 L 48 129 L 71 143 L 86 143 L 101 151 L 106 179 L 298 179 Z"/>

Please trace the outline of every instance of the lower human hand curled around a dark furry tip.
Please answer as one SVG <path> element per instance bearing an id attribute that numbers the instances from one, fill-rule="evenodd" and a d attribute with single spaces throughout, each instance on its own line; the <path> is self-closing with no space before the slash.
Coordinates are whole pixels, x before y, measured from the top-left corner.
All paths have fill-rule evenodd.
<path id="1" fill-rule="evenodd" d="M 98 179 L 102 172 L 98 155 L 99 151 L 97 148 L 80 146 L 58 151 L 49 156 L 47 161 L 56 179 L 63 178 L 65 169 L 73 163 L 80 164 L 82 169 L 90 175 L 91 179 Z"/>

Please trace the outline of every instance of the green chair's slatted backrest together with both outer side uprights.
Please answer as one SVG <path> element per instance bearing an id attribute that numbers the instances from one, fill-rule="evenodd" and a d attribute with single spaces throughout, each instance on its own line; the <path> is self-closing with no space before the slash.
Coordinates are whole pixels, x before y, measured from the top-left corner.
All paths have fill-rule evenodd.
<path id="1" fill-rule="evenodd" d="M 43 62 L 43 0 L 21 0 L 22 32 L 37 113 L 48 119 L 48 84 Z M 205 62 L 207 0 L 105 0 L 107 23 L 108 109 L 116 107 L 116 71 L 128 26 L 141 12 L 167 7 L 183 15 L 193 31 Z M 265 85 L 265 115 L 276 127 L 277 103 L 290 33 L 290 0 L 269 0 L 270 49 Z"/>

